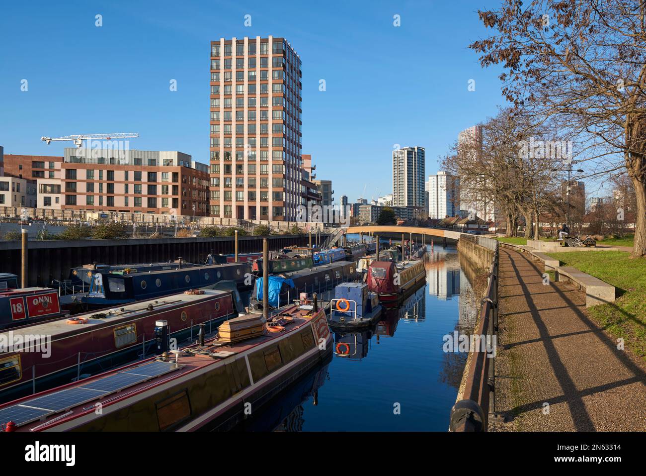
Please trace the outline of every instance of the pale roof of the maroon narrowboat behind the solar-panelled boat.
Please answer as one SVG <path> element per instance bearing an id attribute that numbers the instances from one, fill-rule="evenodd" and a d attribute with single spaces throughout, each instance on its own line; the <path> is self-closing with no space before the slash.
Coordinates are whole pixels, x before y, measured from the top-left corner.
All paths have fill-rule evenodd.
<path id="1" fill-rule="evenodd" d="M 138 316 L 143 316 L 144 314 L 151 312 L 151 310 L 148 309 L 149 305 L 152 305 L 154 311 L 159 312 L 161 310 L 195 303 L 196 301 L 203 301 L 204 299 L 212 299 L 213 297 L 227 296 L 231 294 L 231 291 L 220 291 L 214 289 L 205 289 L 203 291 L 204 294 L 184 294 L 183 292 L 180 292 L 163 298 L 158 297 L 157 299 L 135 301 L 134 303 L 129 303 L 112 309 L 96 310 L 94 312 L 75 314 L 74 316 L 67 316 L 61 319 L 34 323 L 33 325 L 19 327 L 18 329 L 5 330 L 4 332 L 0 332 L 0 336 L 4 335 L 8 338 L 8 332 L 12 332 L 14 336 L 47 335 L 52 338 L 56 338 L 65 334 L 78 332 L 78 330 L 88 330 L 92 329 L 92 327 L 105 327 L 107 325 L 118 323 L 119 321 L 126 321 Z M 105 317 L 92 318 L 92 316 L 97 316 L 98 314 L 105 314 Z M 69 317 L 87 318 L 88 321 L 85 324 L 70 325 L 67 323 L 67 319 Z"/>

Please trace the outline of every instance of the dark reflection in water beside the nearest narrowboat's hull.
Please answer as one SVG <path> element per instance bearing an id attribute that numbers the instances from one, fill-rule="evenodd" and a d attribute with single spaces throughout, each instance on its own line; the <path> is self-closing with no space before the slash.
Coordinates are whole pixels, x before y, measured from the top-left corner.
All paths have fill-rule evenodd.
<path id="1" fill-rule="evenodd" d="M 276 395 L 264 409 L 255 411 L 249 418 L 242 420 L 231 431 L 302 431 L 305 422 L 303 405 L 310 398 L 313 406 L 318 405 L 318 389 L 328 378 L 331 359 L 332 354 L 328 354 L 324 362 Z"/>

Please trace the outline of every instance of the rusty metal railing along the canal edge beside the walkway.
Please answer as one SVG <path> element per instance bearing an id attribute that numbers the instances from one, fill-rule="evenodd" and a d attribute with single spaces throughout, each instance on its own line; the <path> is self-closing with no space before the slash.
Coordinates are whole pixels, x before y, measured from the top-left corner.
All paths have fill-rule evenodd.
<path id="1" fill-rule="evenodd" d="M 461 237 L 462 238 L 462 237 Z M 495 240 L 492 240 L 495 241 Z M 494 258 L 485 297 L 481 301 L 479 336 L 498 334 L 498 246 L 495 241 Z M 450 431 L 486 431 L 489 413 L 495 415 L 495 351 L 494 356 L 475 345 L 472 359 L 466 369 L 463 399 L 451 409 Z"/>

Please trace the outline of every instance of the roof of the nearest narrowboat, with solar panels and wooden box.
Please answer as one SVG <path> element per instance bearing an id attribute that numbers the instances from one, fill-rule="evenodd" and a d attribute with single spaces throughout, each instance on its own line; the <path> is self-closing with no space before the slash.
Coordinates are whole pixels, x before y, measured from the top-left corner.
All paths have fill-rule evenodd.
<path id="1" fill-rule="evenodd" d="M 77 418 L 83 417 L 78 424 L 94 418 L 97 406 L 104 410 L 114 404 L 118 404 L 118 408 L 123 407 L 127 405 L 124 400 L 128 398 L 215 365 L 286 333 L 295 332 L 313 319 L 311 308 L 293 306 L 284 312 L 294 320 L 287 324 L 283 332 L 265 330 L 260 336 L 238 343 L 216 338 L 203 347 L 194 344 L 180 349 L 182 354 L 179 355 L 178 364 L 175 363 L 174 354 L 170 354 L 166 360 L 160 357 L 143 360 L 74 384 L 27 396 L 0 406 L 0 424 L 13 421 L 17 426 L 16 431 L 70 429 L 77 425 L 74 422 Z"/>

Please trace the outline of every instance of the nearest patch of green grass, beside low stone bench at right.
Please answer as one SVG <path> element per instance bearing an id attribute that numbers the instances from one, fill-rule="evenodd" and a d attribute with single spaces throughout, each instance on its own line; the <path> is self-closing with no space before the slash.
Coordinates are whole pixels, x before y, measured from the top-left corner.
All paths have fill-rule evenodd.
<path id="1" fill-rule="evenodd" d="M 590 317 L 646 361 L 646 258 L 621 251 L 548 253 L 617 288 L 614 303 L 590 307 Z"/>

